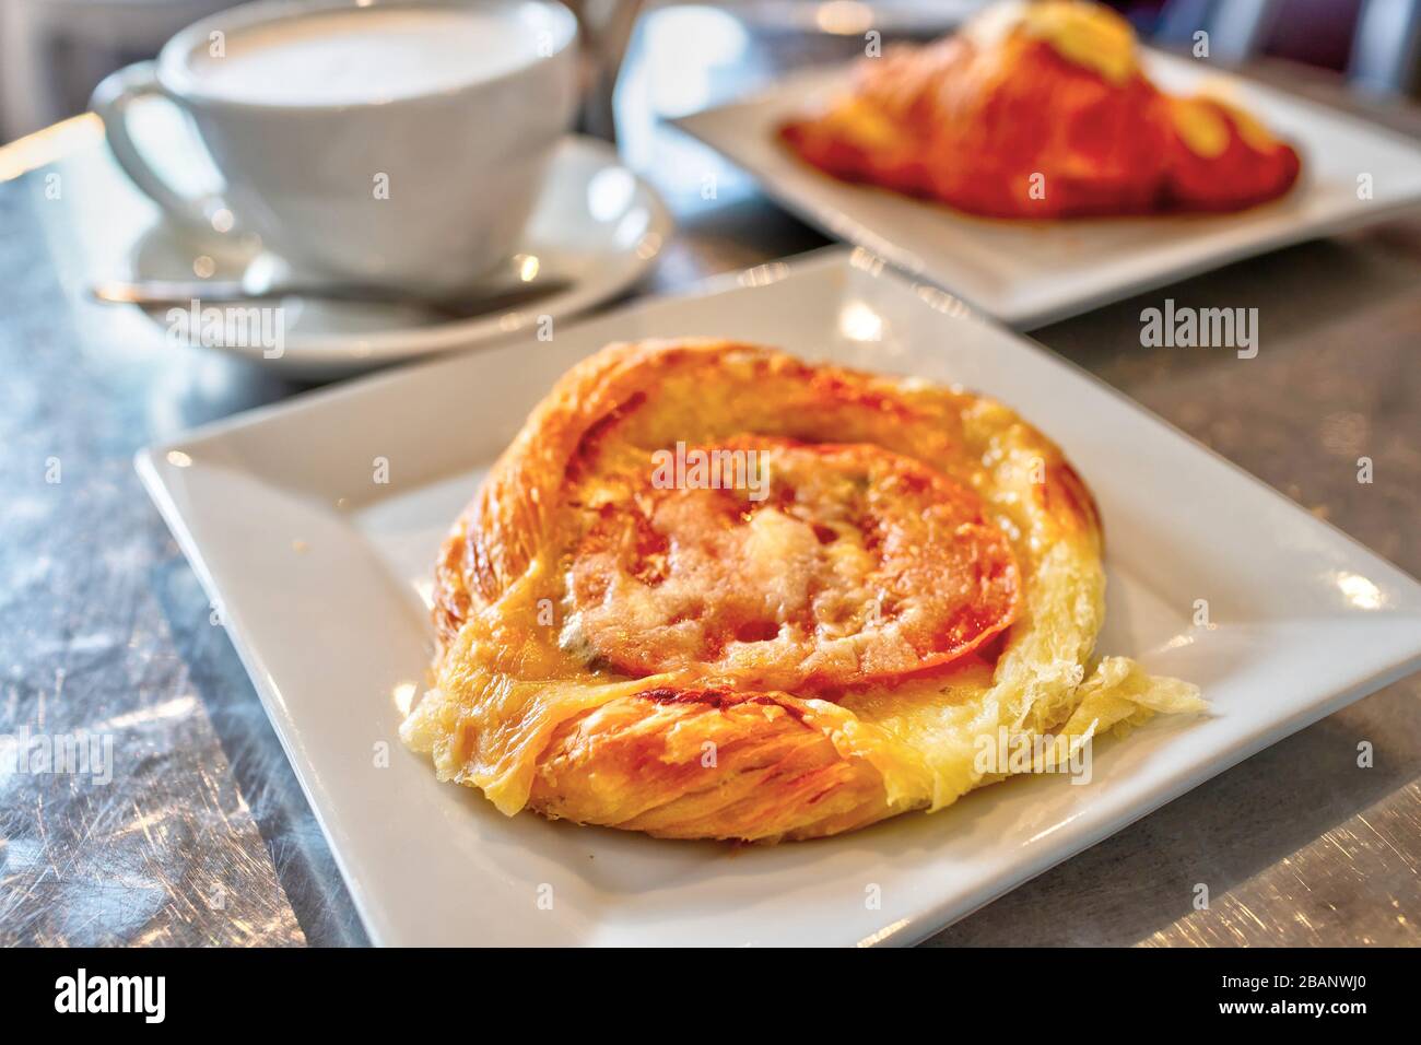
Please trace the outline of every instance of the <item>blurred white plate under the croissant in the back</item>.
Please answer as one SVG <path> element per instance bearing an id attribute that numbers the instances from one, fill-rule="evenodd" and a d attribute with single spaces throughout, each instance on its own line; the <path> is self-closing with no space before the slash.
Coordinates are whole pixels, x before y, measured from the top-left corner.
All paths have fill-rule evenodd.
<path id="1" fill-rule="evenodd" d="M 674 122 L 749 171 L 806 220 L 1023 330 L 1421 203 L 1421 148 L 1414 142 L 1201 63 L 1155 53 L 1145 60 L 1161 87 L 1187 92 L 1209 81 L 1293 141 L 1303 158 L 1299 185 L 1279 200 L 1233 215 L 973 218 L 837 181 L 779 142 L 780 124 L 844 88 L 844 67 L 809 70 L 747 101 Z M 1361 175 L 1371 178 L 1371 199 L 1358 199 Z"/>

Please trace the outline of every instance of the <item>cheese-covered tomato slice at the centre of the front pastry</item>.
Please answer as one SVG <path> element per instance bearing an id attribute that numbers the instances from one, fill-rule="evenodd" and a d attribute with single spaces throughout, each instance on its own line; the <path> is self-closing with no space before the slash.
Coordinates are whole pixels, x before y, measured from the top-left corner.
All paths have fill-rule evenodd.
<path id="1" fill-rule="evenodd" d="M 631 674 L 814 688 L 948 664 L 1015 618 L 1016 560 L 971 489 L 864 444 L 742 438 L 718 452 L 757 455 L 759 499 L 648 488 L 645 461 L 622 496 L 577 496 L 591 522 L 564 648 Z"/>

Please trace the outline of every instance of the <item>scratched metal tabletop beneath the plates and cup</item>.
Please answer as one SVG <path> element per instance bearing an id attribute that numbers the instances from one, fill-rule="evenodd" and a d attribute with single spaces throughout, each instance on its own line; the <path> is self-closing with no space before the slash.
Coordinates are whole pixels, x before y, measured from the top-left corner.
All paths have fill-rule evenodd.
<path id="1" fill-rule="evenodd" d="M 642 26 L 620 144 L 681 233 L 637 293 L 824 242 L 657 118 L 847 53 L 729 20 Z M 1421 135 L 1415 109 L 1364 105 L 1293 70 L 1250 71 Z M 0 769 L 0 943 L 362 944 L 252 684 L 131 462 L 151 441 L 300 388 L 166 347 L 146 323 L 84 299 L 153 220 L 92 118 L 0 148 L 0 736 L 112 738 L 104 772 Z M 1414 576 L 1418 286 L 1421 216 L 1032 334 Z M 1141 347 L 1140 313 L 1165 297 L 1258 307 L 1258 358 Z M 1370 485 L 1357 482 L 1358 456 L 1374 462 Z M 1418 697 L 1412 677 L 1358 701 L 931 943 L 1421 943 Z"/>

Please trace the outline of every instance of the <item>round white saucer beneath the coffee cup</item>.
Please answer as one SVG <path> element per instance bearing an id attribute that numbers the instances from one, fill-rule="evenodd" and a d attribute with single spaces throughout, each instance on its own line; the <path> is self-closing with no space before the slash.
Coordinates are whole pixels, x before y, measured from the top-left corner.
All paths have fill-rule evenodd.
<path id="1" fill-rule="evenodd" d="M 470 191 L 477 191 L 470 186 Z M 568 280 L 570 286 L 536 299 L 514 311 L 490 313 L 469 320 L 431 320 L 416 307 L 360 304 L 287 297 L 252 304 L 281 307 L 280 355 L 260 338 L 226 340 L 210 324 L 200 344 L 232 351 L 280 367 L 284 374 L 331 378 L 411 360 L 419 355 L 470 348 L 536 330 L 541 317 L 553 327 L 563 318 L 615 297 L 655 262 L 671 237 L 674 222 L 649 185 L 622 166 L 611 145 L 595 138 L 568 135 L 549 164 L 547 181 L 517 254 L 537 279 Z M 200 253 L 200 250 L 198 250 Z M 195 245 L 168 223 L 152 226 L 129 253 L 132 279 L 193 279 Z M 237 279 L 252 266 L 286 269 L 267 252 L 203 254 L 202 272 L 212 280 Z M 210 264 L 209 264 L 210 263 Z M 172 327 L 169 310 L 141 314 L 165 334 Z M 271 344 L 269 340 L 267 345 Z M 199 348 L 200 351 L 200 348 Z"/>

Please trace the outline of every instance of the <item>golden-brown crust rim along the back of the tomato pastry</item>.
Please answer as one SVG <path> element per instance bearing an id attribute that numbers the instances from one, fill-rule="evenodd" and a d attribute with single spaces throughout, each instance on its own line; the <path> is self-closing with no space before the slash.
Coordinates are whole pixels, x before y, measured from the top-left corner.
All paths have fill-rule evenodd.
<path id="1" fill-rule="evenodd" d="M 733 370 L 739 374 L 732 374 Z M 531 535 L 541 530 L 546 519 L 541 508 L 556 500 L 558 485 L 576 475 L 597 442 L 642 407 L 648 394 L 675 380 L 684 385 L 703 381 L 710 388 L 733 380 L 740 392 L 762 398 L 780 414 L 762 411 L 755 418 L 766 425 L 753 429 L 762 435 L 773 428 L 810 444 L 871 442 L 928 463 L 959 456 L 966 441 L 962 418 L 969 407 L 979 412 L 1002 409 L 945 388 L 904 395 L 895 381 L 837 367 L 811 367 L 753 345 L 719 341 L 610 345 L 558 381 L 445 540 L 435 584 L 436 624 L 443 640 L 453 637 L 475 604 L 496 600 L 527 569 L 536 552 Z M 784 395 L 786 391 L 791 394 Z M 675 401 L 675 395 L 664 398 Z M 845 425 L 850 415 L 853 424 Z M 1063 471 L 1069 475 L 1074 495 L 1064 503 L 1060 526 L 1098 532 L 1090 493 L 1056 446 L 1025 425 L 1020 434 L 1026 449 L 1039 451 L 1052 485 L 1057 485 Z M 688 439 L 679 436 L 679 441 Z M 976 442 L 975 448 L 985 449 L 980 436 Z M 966 462 L 952 461 L 948 468 L 962 475 Z"/>

